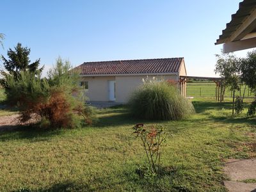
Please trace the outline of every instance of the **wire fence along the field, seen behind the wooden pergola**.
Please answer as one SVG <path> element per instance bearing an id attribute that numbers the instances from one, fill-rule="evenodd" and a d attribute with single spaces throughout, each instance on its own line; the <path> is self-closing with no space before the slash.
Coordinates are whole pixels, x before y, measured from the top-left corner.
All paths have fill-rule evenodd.
<path id="1" fill-rule="evenodd" d="M 241 86 L 240 91 L 236 95 L 243 96 L 244 86 Z M 187 83 L 188 97 L 216 97 L 216 84 L 212 82 Z M 229 89 L 225 90 L 224 97 L 233 97 L 233 92 Z M 245 89 L 244 97 L 254 97 L 248 87 Z"/>

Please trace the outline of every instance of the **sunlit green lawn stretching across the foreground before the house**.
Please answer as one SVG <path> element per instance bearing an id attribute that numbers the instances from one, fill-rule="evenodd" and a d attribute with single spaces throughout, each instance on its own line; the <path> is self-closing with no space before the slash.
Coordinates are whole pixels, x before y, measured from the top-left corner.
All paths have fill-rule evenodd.
<path id="1" fill-rule="evenodd" d="M 0 191 L 225 191 L 225 159 L 255 157 L 256 120 L 246 111 L 232 118 L 230 102 L 193 103 L 188 120 L 134 120 L 119 107 L 99 110 L 97 123 L 83 129 L 2 132 Z M 136 173 L 147 160 L 131 135 L 141 122 L 163 124 L 168 134 L 164 171 L 154 180 Z"/>

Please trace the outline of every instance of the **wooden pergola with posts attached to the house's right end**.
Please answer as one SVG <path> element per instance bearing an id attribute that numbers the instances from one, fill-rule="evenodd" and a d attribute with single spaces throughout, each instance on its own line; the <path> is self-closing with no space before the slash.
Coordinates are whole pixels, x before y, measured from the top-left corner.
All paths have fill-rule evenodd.
<path id="1" fill-rule="evenodd" d="M 210 80 L 216 83 L 216 100 L 222 102 L 223 101 L 223 95 L 222 95 L 222 89 L 223 89 L 223 77 L 197 77 L 197 76 L 180 76 L 180 85 L 181 87 L 185 89 L 184 84 L 188 82 L 188 79 L 198 79 L 198 80 Z M 186 92 L 185 90 L 182 90 L 182 93 Z"/>

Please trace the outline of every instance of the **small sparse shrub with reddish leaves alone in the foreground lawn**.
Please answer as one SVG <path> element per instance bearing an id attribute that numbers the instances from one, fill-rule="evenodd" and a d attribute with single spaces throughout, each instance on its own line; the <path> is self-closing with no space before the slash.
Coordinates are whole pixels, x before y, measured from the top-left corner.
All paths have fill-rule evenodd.
<path id="1" fill-rule="evenodd" d="M 145 170 L 144 175 L 147 177 L 154 177 L 159 173 L 161 163 L 161 147 L 166 141 L 165 132 L 162 125 L 144 126 L 137 124 L 133 127 L 133 134 L 136 138 L 140 138 L 148 159 L 148 168 L 140 168 Z"/>

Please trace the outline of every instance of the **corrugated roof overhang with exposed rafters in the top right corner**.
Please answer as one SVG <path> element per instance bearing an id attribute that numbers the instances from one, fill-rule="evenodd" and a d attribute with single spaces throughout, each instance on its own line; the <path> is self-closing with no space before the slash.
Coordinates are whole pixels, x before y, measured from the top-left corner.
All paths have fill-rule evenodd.
<path id="1" fill-rule="evenodd" d="M 225 53 L 256 47 L 256 0 L 239 3 L 239 10 L 216 40 L 215 45 L 219 44 Z"/>

